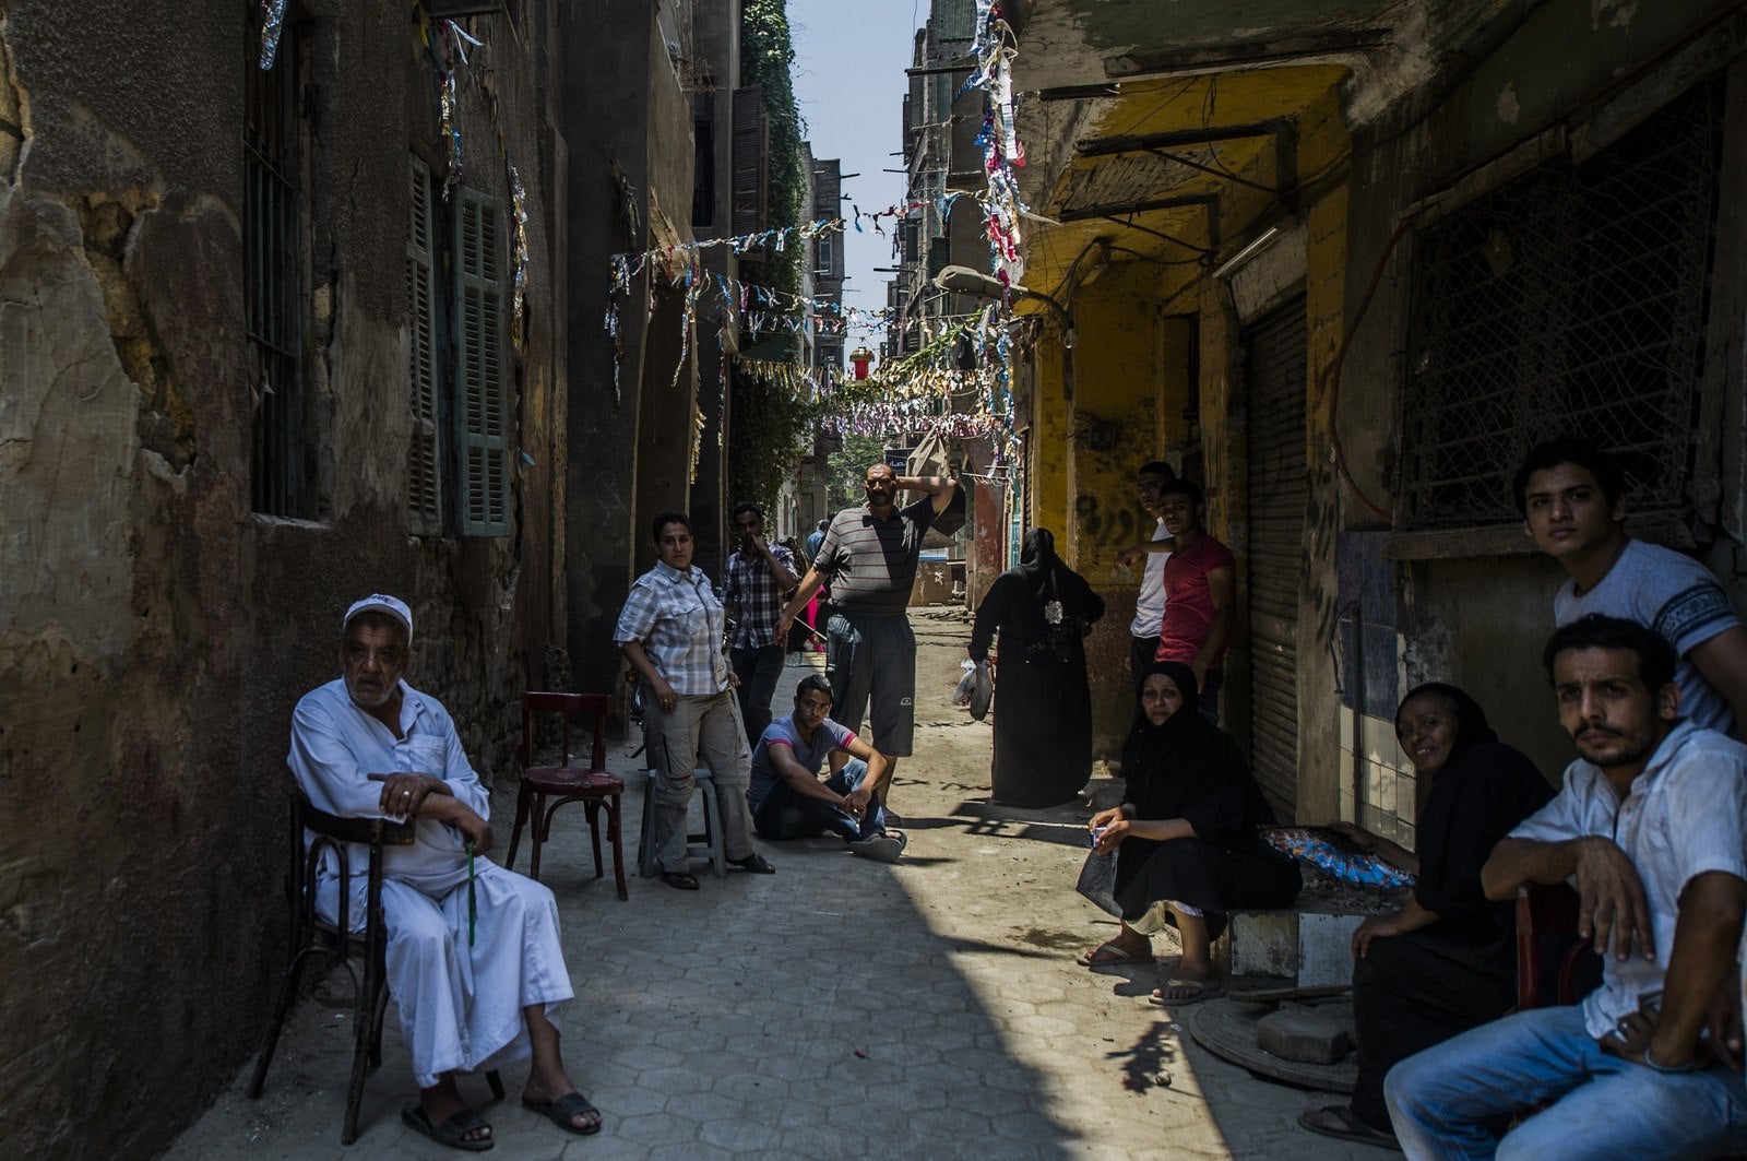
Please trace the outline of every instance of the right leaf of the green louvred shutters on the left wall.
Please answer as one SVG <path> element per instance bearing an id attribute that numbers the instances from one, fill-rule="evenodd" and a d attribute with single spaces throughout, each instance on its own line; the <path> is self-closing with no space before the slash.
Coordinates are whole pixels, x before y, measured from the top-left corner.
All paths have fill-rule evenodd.
<path id="1" fill-rule="evenodd" d="M 510 441 L 503 358 L 503 213 L 463 187 L 454 215 L 456 402 L 461 535 L 510 535 Z"/>

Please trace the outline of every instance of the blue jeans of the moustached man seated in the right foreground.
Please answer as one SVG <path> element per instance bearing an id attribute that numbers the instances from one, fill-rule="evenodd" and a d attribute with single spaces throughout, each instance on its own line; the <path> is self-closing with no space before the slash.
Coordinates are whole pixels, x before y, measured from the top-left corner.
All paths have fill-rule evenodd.
<path id="1" fill-rule="evenodd" d="M 1709 1158 L 1747 1140 L 1747 1089 L 1716 1065 L 1661 1074 L 1609 1056 L 1583 1009 L 1481 1025 L 1389 1070 L 1389 1119 L 1408 1158 Z M 1513 1112 L 1555 1102 L 1511 1130 Z"/>

